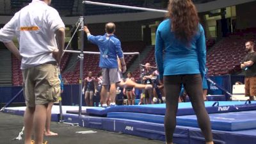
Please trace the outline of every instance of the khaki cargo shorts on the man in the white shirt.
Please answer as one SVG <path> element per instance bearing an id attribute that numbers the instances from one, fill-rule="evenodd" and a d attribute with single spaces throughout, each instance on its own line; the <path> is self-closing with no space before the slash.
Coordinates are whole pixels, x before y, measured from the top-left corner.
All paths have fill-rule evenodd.
<path id="1" fill-rule="evenodd" d="M 44 63 L 22 70 L 26 106 L 56 102 L 60 96 L 60 79 L 55 62 Z"/>

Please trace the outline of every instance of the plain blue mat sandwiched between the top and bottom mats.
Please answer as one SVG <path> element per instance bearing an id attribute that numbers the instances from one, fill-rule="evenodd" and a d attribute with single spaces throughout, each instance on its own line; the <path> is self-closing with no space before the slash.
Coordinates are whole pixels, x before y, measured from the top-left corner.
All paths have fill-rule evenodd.
<path id="1" fill-rule="evenodd" d="M 256 129 L 256 111 L 239 111 L 231 113 L 210 114 L 212 129 L 222 131 L 240 131 Z M 129 120 L 141 120 L 145 122 L 164 123 L 163 115 L 145 113 L 108 113 L 108 118 L 125 118 Z M 177 116 L 177 125 L 198 127 L 195 115 Z"/>

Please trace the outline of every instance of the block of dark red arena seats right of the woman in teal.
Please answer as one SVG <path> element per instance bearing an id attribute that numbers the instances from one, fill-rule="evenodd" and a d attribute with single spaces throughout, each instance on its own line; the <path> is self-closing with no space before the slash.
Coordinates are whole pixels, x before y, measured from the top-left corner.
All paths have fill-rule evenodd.
<path id="1" fill-rule="evenodd" d="M 240 72 L 240 63 L 246 55 L 244 43 L 254 41 L 256 29 L 245 29 L 222 38 L 207 51 L 208 76 L 220 76 Z"/>

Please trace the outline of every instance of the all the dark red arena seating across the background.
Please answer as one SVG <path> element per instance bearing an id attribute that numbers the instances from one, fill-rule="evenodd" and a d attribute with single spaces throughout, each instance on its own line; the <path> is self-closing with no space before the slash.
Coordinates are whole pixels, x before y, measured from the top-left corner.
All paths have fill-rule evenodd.
<path id="1" fill-rule="evenodd" d="M 225 74 L 234 74 L 240 72 L 241 68 L 239 67 L 240 62 L 243 60 L 246 55 L 244 43 L 248 40 L 255 40 L 256 38 L 256 28 L 245 29 L 243 31 L 238 31 L 229 35 L 226 38 L 222 38 L 220 42 L 214 44 L 214 40 L 208 40 L 207 45 L 214 44 L 211 49 L 207 51 L 207 68 L 208 76 L 220 76 Z M 99 51 L 96 45 L 88 44 L 86 51 Z M 154 47 L 154 46 L 153 46 Z M 141 52 L 145 48 L 143 42 L 122 42 L 122 49 L 124 52 Z M 68 58 L 70 54 L 66 53 L 63 57 L 61 63 L 61 72 L 65 69 L 67 65 Z M 125 55 L 125 61 L 127 66 L 136 59 L 136 55 Z M 13 85 L 22 84 L 22 74 L 19 70 L 20 63 L 16 58 L 12 58 L 13 61 Z M 148 52 L 147 57 L 141 61 L 141 63 L 150 63 L 153 67 L 156 67 L 156 62 L 154 58 L 154 48 L 152 51 Z M 88 71 L 93 72 L 93 76 L 97 76 L 100 71 L 99 65 L 99 56 L 93 54 L 84 55 L 84 77 Z M 133 76 L 135 79 L 140 79 L 140 68 L 134 70 Z M 63 74 L 68 80 L 68 83 L 76 84 L 79 79 L 79 63 L 77 63 L 76 68 L 73 72 L 67 72 Z"/>

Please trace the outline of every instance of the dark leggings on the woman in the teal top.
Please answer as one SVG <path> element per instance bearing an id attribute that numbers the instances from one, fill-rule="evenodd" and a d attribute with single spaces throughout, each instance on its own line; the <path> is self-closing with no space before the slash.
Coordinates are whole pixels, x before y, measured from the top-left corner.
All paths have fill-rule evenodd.
<path id="1" fill-rule="evenodd" d="M 196 113 L 198 125 L 204 134 L 205 141 L 212 141 L 211 123 L 204 106 L 202 77 L 200 74 L 164 76 L 164 91 L 166 93 L 166 113 L 164 129 L 166 142 L 173 142 L 173 132 L 176 127 L 176 114 L 179 103 L 179 93 L 182 84 L 189 95 Z"/>

